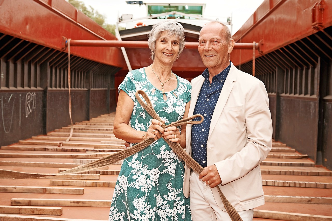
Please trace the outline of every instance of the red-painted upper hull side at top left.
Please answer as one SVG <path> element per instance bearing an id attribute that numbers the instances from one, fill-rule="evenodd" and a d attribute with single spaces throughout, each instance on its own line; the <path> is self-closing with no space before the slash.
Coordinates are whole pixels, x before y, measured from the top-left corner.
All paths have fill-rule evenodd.
<path id="1" fill-rule="evenodd" d="M 0 33 L 61 50 L 62 37 L 116 40 L 116 37 L 63 0 L 2 0 Z M 18 13 L 19 12 L 19 13 Z M 76 47 L 71 53 L 104 64 L 125 66 L 116 47 Z"/>

